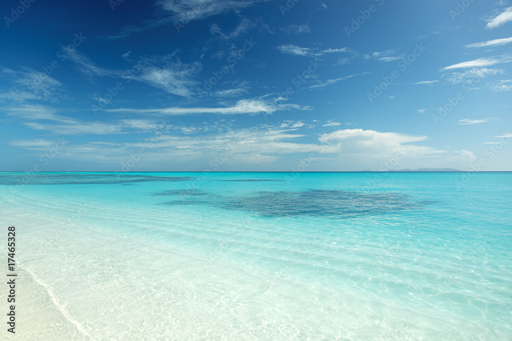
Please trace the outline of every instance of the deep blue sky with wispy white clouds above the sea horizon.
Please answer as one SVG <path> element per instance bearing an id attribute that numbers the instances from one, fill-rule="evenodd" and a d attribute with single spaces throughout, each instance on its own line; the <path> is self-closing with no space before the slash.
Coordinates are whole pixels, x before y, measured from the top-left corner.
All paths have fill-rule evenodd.
<path id="1" fill-rule="evenodd" d="M 0 14 L 0 171 L 512 171 L 510 0 Z"/>

